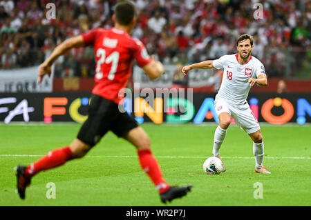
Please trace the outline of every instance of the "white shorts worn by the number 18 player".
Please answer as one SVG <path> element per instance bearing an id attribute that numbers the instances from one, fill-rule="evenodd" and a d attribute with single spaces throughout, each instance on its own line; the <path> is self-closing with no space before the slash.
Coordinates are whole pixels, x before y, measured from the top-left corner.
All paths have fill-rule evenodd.
<path id="1" fill-rule="evenodd" d="M 252 134 L 261 129 L 247 101 L 240 105 L 234 105 L 225 99 L 215 99 L 214 107 L 218 117 L 222 112 L 229 113 L 234 118 L 238 128 L 245 130 L 247 134 Z"/>

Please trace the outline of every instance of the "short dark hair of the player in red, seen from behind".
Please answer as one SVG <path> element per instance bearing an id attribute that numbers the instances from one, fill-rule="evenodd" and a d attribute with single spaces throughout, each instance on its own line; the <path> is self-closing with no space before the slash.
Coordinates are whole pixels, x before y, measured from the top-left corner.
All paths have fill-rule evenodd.
<path id="1" fill-rule="evenodd" d="M 129 25 L 135 16 L 135 6 L 131 1 L 118 1 L 115 5 L 115 19 L 120 25 Z"/>

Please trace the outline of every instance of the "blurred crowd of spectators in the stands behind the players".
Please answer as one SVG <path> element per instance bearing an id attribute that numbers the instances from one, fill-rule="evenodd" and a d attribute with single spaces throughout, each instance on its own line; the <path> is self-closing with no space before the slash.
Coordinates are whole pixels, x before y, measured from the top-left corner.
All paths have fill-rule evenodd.
<path id="1" fill-rule="evenodd" d="M 56 6 L 55 19 L 46 17 L 50 2 Z M 0 68 L 37 65 L 68 37 L 92 28 L 111 28 L 116 2 L 1 0 Z M 138 10 L 132 36 L 164 63 L 193 63 L 236 53 L 236 39 L 244 33 L 254 36 L 252 54 L 271 77 L 294 77 L 310 63 L 310 0 L 132 2 Z M 93 77 L 93 49 L 70 50 L 59 57 L 55 74 Z"/>

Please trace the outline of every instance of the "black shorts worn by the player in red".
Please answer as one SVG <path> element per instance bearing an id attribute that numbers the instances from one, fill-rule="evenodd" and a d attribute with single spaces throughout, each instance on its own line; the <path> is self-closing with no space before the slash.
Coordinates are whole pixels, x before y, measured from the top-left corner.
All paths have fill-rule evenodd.
<path id="1" fill-rule="evenodd" d="M 138 123 L 125 112 L 123 106 L 120 108 L 122 112 L 117 103 L 92 94 L 91 103 L 88 106 L 88 119 L 80 128 L 77 139 L 95 146 L 109 130 L 117 137 L 122 137 L 133 128 L 137 128 Z"/>

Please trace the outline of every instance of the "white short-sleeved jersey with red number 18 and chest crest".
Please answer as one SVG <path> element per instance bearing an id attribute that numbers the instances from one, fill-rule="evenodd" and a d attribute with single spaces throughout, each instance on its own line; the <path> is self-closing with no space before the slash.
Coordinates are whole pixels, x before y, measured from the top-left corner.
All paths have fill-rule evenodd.
<path id="1" fill-rule="evenodd" d="M 257 79 L 265 74 L 263 63 L 250 56 L 245 64 L 238 63 L 238 54 L 230 54 L 213 61 L 216 69 L 223 69 L 223 81 L 216 94 L 216 99 L 226 99 L 229 103 L 241 104 L 247 99 L 251 88 L 248 79 Z"/>

